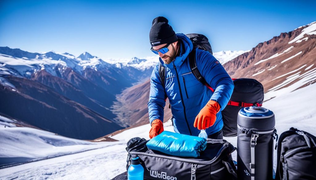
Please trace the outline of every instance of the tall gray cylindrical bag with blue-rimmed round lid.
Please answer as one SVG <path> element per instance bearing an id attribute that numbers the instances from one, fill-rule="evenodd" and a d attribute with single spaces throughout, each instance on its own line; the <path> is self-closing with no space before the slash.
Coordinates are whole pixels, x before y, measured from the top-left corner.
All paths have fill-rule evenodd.
<path id="1" fill-rule="evenodd" d="M 274 113 L 263 107 L 242 108 L 237 117 L 237 175 L 244 180 L 273 178 Z"/>

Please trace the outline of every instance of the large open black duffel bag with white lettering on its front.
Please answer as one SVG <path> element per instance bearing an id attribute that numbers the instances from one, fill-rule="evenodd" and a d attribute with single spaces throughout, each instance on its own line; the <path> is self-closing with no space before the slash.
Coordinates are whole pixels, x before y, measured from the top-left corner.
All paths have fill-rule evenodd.
<path id="1" fill-rule="evenodd" d="M 134 141 L 134 140 L 133 140 Z M 234 146 L 226 140 L 208 139 L 197 158 L 177 157 L 147 148 L 143 141 L 128 148 L 127 169 L 131 158 L 139 157 L 146 180 L 217 180 L 237 179 L 231 156 Z"/>

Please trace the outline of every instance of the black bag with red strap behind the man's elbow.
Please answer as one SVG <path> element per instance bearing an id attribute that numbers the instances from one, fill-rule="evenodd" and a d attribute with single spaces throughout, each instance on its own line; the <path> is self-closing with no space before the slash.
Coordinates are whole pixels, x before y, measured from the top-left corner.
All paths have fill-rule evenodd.
<path id="1" fill-rule="evenodd" d="M 241 108 L 262 106 L 264 90 L 256 79 L 233 79 L 234 91 L 225 109 L 222 111 L 223 136 L 237 136 L 237 115 Z"/>

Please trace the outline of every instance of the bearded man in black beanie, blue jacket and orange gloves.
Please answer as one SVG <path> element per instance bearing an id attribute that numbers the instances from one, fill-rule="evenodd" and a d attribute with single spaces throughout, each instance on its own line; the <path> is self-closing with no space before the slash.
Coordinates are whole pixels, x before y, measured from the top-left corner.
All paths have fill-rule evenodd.
<path id="1" fill-rule="evenodd" d="M 149 33 L 151 50 L 160 56 L 165 67 L 165 83 L 159 75 L 159 63 L 150 78 L 149 137 L 160 134 L 163 129 L 163 115 L 166 99 L 169 99 L 173 114 L 174 131 L 198 136 L 204 129 L 208 138 L 222 139 L 222 113 L 234 84 L 222 65 L 208 51 L 196 49 L 196 63 L 201 75 L 215 90 L 199 82 L 191 72 L 188 55 L 193 49 L 191 40 L 182 33 L 175 33 L 165 17 L 153 20 Z"/>

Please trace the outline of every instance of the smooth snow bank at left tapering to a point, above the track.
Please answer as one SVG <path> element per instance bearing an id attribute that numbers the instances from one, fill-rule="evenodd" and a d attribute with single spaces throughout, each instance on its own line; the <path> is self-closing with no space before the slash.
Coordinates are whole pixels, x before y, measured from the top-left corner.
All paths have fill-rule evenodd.
<path id="1" fill-rule="evenodd" d="M 15 124 L 17 124 L 16 120 L 0 116 L 0 168 L 107 147 L 117 143 L 72 139 L 48 131 L 18 127 Z"/>

